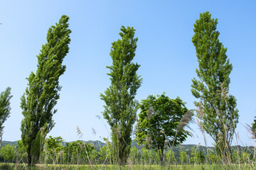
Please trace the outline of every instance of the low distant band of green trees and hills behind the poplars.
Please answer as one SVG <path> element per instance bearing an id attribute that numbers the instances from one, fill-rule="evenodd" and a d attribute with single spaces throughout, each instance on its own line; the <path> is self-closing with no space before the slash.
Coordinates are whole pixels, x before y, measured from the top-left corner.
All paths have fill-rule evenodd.
<path id="1" fill-rule="evenodd" d="M 27 162 L 26 152 L 18 148 L 18 142 L 3 145 L 0 149 L 1 162 Z M 15 145 L 16 144 L 16 145 Z M 101 146 L 101 147 L 100 147 Z M 142 148 L 141 148 L 142 147 Z M 254 162 L 254 147 L 233 146 L 233 164 L 247 164 Z M 208 152 L 207 152 L 208 150 Z M 207 155 L 208 154 L 208 155 Z M 114 164 L 116 157 L 112 151 L 112 145 L 100 141 L 63 142 L 61 137 L 48 137 L 46 145 L 42 149 L 39 163 L 41 164 Z M 154 149 L 146 149 L 137 142 L 131 147 L 127 160 L 128 164 L 159 165 L 161 160 Z M 221 157 L 215 152 L 214 147 L 199 145 L 179 145 L 167 148 L 164 152 L 165 164 L 221 164 Z"/>

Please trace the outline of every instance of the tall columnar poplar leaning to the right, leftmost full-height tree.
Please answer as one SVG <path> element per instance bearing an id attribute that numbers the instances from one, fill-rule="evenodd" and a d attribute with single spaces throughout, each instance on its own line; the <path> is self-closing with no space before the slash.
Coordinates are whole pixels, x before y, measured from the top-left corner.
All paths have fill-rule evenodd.
<path id="1" fill-rule="evenodd" d="M 26 93 L 21 96 L 24 116 L 21 122 L 21 140 L 26 147 L 28 164 L 35 164 L 41 152 L 41 143 L 53 128 L 54 108 L 60 98 L 59 77 L 65 72 L 63 59 L 67 55 L 71 30 L 68 16 L 61 16 L 59 23 L 51 26 L 47 42 L 38 57 L 36 74 L 31 72 Z"/>

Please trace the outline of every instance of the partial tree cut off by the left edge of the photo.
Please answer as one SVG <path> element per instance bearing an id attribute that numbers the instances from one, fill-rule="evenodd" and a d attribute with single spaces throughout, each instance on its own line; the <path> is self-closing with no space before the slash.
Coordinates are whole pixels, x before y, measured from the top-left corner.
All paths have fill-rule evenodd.
<path id="1" fill-rule="evenodd" d="M 1 92 L 0 94 L 0 147 L 2 136 L 4 133 L 4 122 L 7 118 L 9 118 L 11 113 L 11 88 L 7 87 L 5 91 Z"/>

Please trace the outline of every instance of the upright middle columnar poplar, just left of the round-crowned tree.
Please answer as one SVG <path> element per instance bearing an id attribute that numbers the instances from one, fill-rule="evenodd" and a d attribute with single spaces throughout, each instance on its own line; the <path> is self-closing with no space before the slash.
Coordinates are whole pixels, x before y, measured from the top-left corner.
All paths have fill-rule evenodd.
<path id="1" fill-rule="evenodd" d="M 122 39 L 112 42 L 112 66 L 107 67 L 111 85 L 100 97 L 105 101 L 103 116 L 112 130 L 114 154 L 118 164 L 123 165 L 129 156 L 132 126 L 139 108 L 134 98 L 142 79 L 137 75 L 139 64 L 132 62 L 138 40 L 134 38 L 135 29 L 122 26 L 121 31 Z"/>

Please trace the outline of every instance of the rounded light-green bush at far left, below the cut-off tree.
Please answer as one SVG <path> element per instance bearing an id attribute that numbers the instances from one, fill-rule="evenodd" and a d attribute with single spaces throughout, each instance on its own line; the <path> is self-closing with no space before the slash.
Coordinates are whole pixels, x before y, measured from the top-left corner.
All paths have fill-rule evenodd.
<path id="1" fill-rule="evenodd" d="M 14 162 L 17 157 L 16 147 L 10 144 L 1 147 L 0 157 L 4 157 L 5 162 Z"/>

